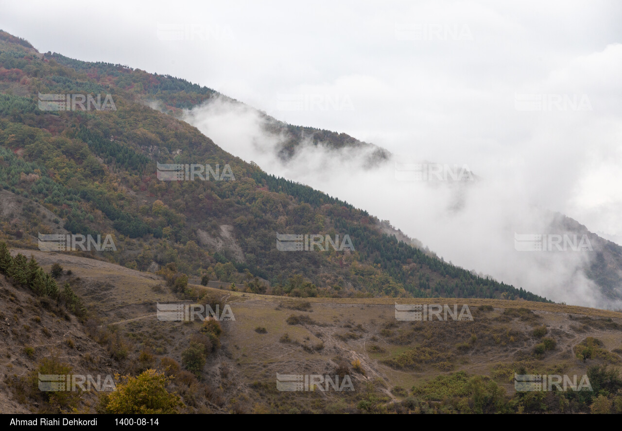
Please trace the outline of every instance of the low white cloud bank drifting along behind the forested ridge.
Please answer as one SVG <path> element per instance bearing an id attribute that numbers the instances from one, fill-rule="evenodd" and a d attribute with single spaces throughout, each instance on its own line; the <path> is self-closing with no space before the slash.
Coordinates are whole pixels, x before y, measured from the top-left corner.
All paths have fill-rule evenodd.
<path id="1" fill-rule="evenodd" d="M 583 273 L 590 252 L 518 252 L 514 248 L 515 233 L 559 233 L 550 232 L 554 213 L 549 210 L 557 208 L 543 205 L 542 198 L 560 202 L 576 196 L 570 186 L 577 181 L 570 178 L 578 178 L 565 170 L 564 163 L 580 153 L 560 155 L 559 163 L 553 165 L 547 165 L 547 160 L 526 164 L 521 157 L 508 157 L 501 148 L 503 157 L 498 157 L 503 161 L 497 169 L 475 181 L 402 181 L 397 178 L 396 166 L 426 160 L 412 154 L 392 155 L 370 167 L 367 162 L 373 148 L 334 150 L 311 145 L 310 140 L 302 142 L 289 160 L 283 160 L 278 154 L 284 137 L 266 132 L 265 117 L 255 109 L 226 99 L 187 111 L 184 119 L 216 145 L 246 161 L 255 161 L 269 173 L 309 184 L 379 219 L 390 220 L 455 265 L 490 274 L 554 301 L 620 306 L 601 296 L 598 286 Z M 529 145 L 537 145 L 542 138 L 534 135 Z M 483 158 L 494 160 L 492 155 Z M 457 158 L 433 161 L 447 164 L 450 171 L 455 165 L 458 171 L 465 165 Z M 580 160 L 572 164 L 578 166 Z M 546 175 L 537 175 L 537 170 L 544 168 Z M 542 179 L 548 176 L 553 181 L 543 187 Z M 556 177 L 563 181 L 556 181 Z"/>

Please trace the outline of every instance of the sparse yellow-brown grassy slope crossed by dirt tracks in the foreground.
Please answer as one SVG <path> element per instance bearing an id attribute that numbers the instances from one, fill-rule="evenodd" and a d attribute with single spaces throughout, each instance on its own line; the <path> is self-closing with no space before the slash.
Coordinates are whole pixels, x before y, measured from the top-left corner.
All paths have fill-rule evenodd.
<path id="1" fill-rule="evenodd" d="M 177 299 L 167 288 L 154 291 L 154 286 L 162 281 L 151 274 L 78 256 L 33 254 L 44 268 L 59 261 L 65 270 L 72 270 L 72 277 L 79 279 L 75 290 L 89 309 L 95 311 L 101 324 L 116 327 L 131 340 L 128 361 L 136 361 L 138 352 L 146 346 L 156 351 L 164 349 L 157 356 L 166 355 L 180 361 L 188 338 L 200 327 L 198 322 L 184 324 L 156 319 L 156 301 Z M 205 379 L 222 391 L 225 410 L 237 403 L 243 404 L 246 411 L 257 412 L 354 411 L 366 390 L 366 382 L 373 384 L 383 402 L 399 401 L 404 396 L 391 393 L 396 386 L 409 391 L 413 385 L 436 375 L 461 370 L 470 375 L 491 376 L 511 395 L 513 363 L 526 366 L 533 373 L 581 375 L 590 365 L 615 365 L 622 360 L 620 353 L 614 352 L 609 360 L 582 363 L 573 353 L 573 348 L 587 337 L 600 339 L 609 352 L 614 349 L 620 352 L 622 314 L 613 311 L 499 299 L 399 299 L 400 303 L 467 304 L 474 320 L 397 322 L 395 300 L 391 298 L 301 300 L 193 287 L 225 299 L 235 317 L 234 321 L 221 322 L 223 347 L 208 358 L 204 371 Z M 304 302 L 309 302 L 309 306 L 302 307 L 302 311 L 295 309 Z M 480 306 L 492 306 L 493 311 L 478 311 Z M 511 312 L 511 309 L 526 310 Z M 291 325 L 287 322 L 290 315 L 309 319 L 304 324 Z M 554 338 L 557 347 L 539 357 L 532 352 L 539 340 L 531 332 L 543 324 L 548 327 L 547 337 Z M 258 327 L 264 327 L 267 333 L 257 333 Z M 291 342 L 281 342 L 285 333 Z M 476 335 L 475 342 L 470 342 L 471 335 Z M 460 347 L 461 343 L 467 343 L 468 347 Z M 422 364 L 415 356 L 415 363 L 405 363 L 403 367 L 387 363 L 399 355 L 408 356 L 409 352 L 425 349 L 439 353 L 442 358 Z M 16 350 L 16 345 L 11 347 L 11 352 L 13 358 L 17 356 L 24 363 L 29 361 Z M 45 355 L 45 348 L 40 348 L 37 355 Z M 276 373 L 333 374 L 340 361 L 353 360 L 361 361 L 366 374 L 351 371 L 355 394 L 276 390 Z M 4 361 L 0 372 L 10 371 L 6 366 L 11 361 Z M 118 368 L 123 369 L 124 364 L 121 361 Z M 11 399 L 6 392 L 4 396 Z"/>

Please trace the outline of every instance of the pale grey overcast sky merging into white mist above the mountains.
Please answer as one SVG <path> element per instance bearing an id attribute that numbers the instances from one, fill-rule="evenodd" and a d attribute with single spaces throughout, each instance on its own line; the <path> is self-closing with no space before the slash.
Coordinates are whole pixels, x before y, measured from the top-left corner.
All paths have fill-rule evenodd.
<path id="1" fill-rule="evenodd" d="M 257 153 L 257 142 L 274 142 L 251 136 L 252 115 L 211 107 L 188 116 L 225 150 L 389 219 L 468 269 L 537 291 L 504 273 L 508 256 L 478 260 L 473 237 L 459 238 L 471 230 L 481 240 L 490 225 L 516 230 L 532 208 L 622 243 L 622 2 L 292 3 L 0 0 L 0 28 L 40 52 L 179 76 L 290 124 L 468 166 L 488 181 L 471 196 L 479 209 L 440 229 L 434 211 L 395 202 L 414 196 L 421 206 L 444 192 L 385 193 L 369 174 L 353 184 L 319 165 L 305 175 L 310 154 L 288 170 Z"/>

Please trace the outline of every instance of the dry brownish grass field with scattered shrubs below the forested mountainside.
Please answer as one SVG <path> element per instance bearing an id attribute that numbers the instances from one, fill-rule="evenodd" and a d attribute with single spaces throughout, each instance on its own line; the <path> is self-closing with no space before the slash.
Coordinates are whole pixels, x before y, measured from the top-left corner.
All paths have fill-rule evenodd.
<path id="1" fill-rule="evenodd" d="M 75 286 L 89 318 L 78 322 L 75 317 L 44 315 L 45 311 L 36 309 L 37 299 L 4 283 L 0 325 L 12 342 L 1 348 L 3 376 L 25 375 L 37 359 L 53 354 L 75 368 L 100 366 L 106 373 L 136 371 L 137 357 L 145 350 L 156 365 L 164 356 L 182 363 L 182 352 L 201 322 L 157 319 L 157 302 L 180 301 L 159 276 L 78 256 L 12 250 L 17 252 L 34 255 L 47 271 L 52 263 L 71 270 L 60 283 L 70 281 Z M 208 406 L 212 411 L 355 412 L 361 399 L 373 397 L 388 406 L 409 397 L 414 386 L 457 371 L 487 376 L 512 396 L 516 370 L 582 375 L 590 365 L 616 366 L 622 361 L 620 312 L 496 299 L 297 299 L 189 287 L 195 296 L 204 294 L 228 304 L 234 316 L 220 322 L 221 348 L 208 357 L 203 369 L 202 382 L 218 392 L 217 401 Z M 457 304 L 458 310 L 466 305 L 473 320 L 401 321 L 396 319 L 396 302 L 452 308 Z M 21 314 L 16 311 L 19 304 Z M 29 314 L 41 315 L 44 324 L 26 324 L 37 319 Z M 110 350 L 106 352 L 86 335 L 85 327 L 93 322 L 125 340 L 126 358 L 111 361 Z M 43 326 L 51 337 L 41 333 Z M 576 349 L 588 337 L 599 340 L 600 347 L 584 362 Z M 80 343 L 81 350 L 68 348 L 67 338 Z M 545 338 L 554 340 L 549 342 L 552 347 L 538 351 Z M 18 347 L 22 344 L 34 347 L 34 355 L 24 353 Z M 353 392 L 276 389 L 277 374 L 334 376 L 343 364 L 349 368 Z M 0 396 L 2 411 L 34 409 L 21 406 L 9 390 L 0 391 Z M 200 411 L 200 405 L 195 409 Z"/>

